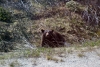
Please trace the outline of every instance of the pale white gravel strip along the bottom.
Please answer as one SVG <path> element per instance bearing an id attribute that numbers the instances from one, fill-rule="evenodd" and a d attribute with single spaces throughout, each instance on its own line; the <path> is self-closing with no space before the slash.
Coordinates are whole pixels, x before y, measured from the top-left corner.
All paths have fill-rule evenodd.
<path id="1" fill-rule="evenodd" d="M 0 67 L 100 67 L 100 49 L 84 52 L 83 57 L 78 54 L 66 53 L 65 57 L 57 57 L 63 60 L 58 62 L 44 57 L 6 59 L 0 60 Z"/>

